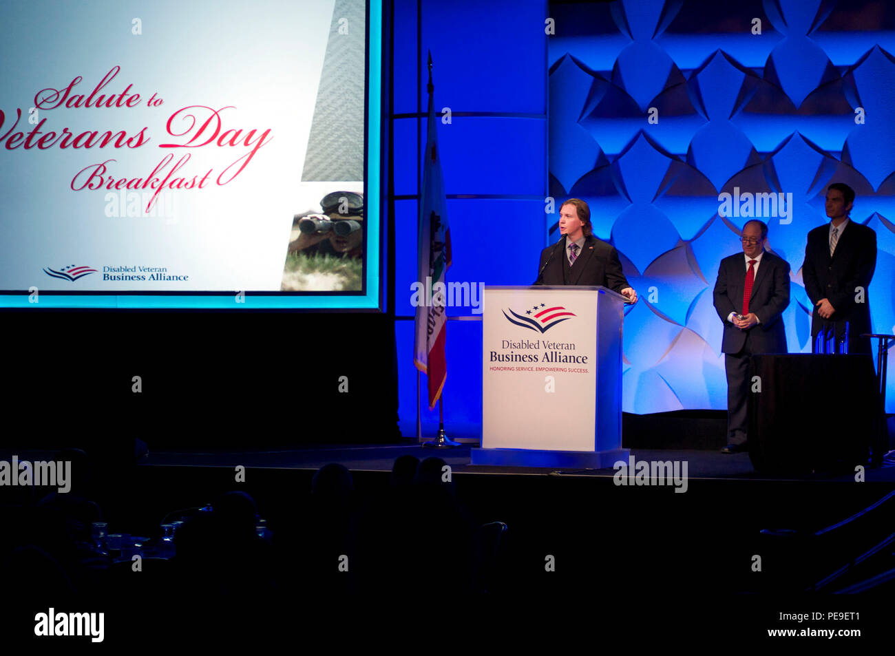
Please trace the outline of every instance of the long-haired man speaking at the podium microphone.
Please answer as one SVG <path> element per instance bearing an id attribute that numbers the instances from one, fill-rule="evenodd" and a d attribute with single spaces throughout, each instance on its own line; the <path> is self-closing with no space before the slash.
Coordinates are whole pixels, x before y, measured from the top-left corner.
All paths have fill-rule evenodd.
<path id="1" fill-rule="evenodd" d="M 541 251 L 540 269 L 534 285 L 602 285 L 637 302 L 637 293 L 627 284 L 618 251 L 593 236 L 591 209 L 584 200 L 572 198 L 559 208 L 557 243 Z"/>

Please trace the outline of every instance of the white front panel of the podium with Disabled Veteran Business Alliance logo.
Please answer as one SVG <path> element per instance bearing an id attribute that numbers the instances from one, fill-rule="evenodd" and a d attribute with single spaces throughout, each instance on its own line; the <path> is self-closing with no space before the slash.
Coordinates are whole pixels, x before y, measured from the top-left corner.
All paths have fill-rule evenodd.
<path id="1" fill-rule="evenodd" d="M 592 287 L 485 287 L 483 449 L 595 449 L 599 295 Z"/>

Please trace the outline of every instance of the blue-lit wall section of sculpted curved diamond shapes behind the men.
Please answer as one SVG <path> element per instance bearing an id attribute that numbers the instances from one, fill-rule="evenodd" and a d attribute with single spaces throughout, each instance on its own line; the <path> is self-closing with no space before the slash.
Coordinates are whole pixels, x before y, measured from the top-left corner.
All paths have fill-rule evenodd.
<path id="1" fill-rule="evenodd" d="M 791 194 L 786 216 L 753 216 L 792 267 L 789 352 L 810 353 L 806 234 L 829 221 L 826 186 L 848 183 L 851 218 L 877 234 L 874 330 L 895 332 L 893 4 L 637 0 L 550 17 L 550 195 L 590 203 L 640 295 L 626 412 L 727 406 L 712 287 L 748 217 L 720 216 L 722 192 Z M 895 376 L 887 396 L 893 412 Z"/>

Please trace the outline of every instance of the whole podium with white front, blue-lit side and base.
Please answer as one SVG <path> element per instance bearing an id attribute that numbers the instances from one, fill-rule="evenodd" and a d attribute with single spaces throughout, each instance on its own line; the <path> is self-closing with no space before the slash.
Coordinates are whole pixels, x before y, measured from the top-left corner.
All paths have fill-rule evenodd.
<path id="1" fill-rule="evenodd" d="M 606 287 L 485 287 L 482 448 L 471 450 L 471 464 L 603 468 L 627 461 L 624 303 Z"/>

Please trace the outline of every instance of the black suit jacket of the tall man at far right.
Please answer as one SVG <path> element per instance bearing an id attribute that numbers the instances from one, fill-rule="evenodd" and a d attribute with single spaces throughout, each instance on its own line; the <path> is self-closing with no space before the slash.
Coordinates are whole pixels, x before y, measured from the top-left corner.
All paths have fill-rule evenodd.
<path id="1" fill-rule="evenodd" d="M 811 314 L 811 336 L 823 328 L 824 321 L 848 321 L 849 333 L 859 337 L 873 332 L 870 328 L 870 299 L 867 288 L 876 268 L 876 233 L 853 220 L 842 231 L 836 251 L 830 257 L 830 224 L 814 228 L 808 233 L 802 280 L 805 292 L 814 303 Z M 856 287 L 864 287 L 864 302 L 856 302 Z M 836 308 L 830 319 L 817 313 L 817 302 L 822 298 Z"/>

